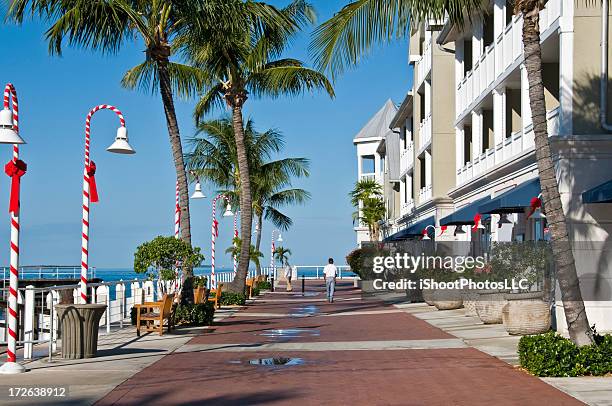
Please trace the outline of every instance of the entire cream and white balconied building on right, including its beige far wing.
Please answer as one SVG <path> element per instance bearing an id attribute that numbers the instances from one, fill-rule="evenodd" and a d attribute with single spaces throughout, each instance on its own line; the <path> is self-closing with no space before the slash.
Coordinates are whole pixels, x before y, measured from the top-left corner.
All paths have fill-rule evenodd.
<path id="1" fill-rule="evenodd" d="M 548 0 L 540 12 L 542 78 L 587 313 L 610 330 L 612 38 L 606 5 L 585 3 Z M 391 123 L 400 129 L 400 229 L 387 240 L 417 238 L 428 225 L 446 226 L 443 238 L 455 241 L 547 239 L 546 220 L 527 218 L 541 190 L 522 17 L 512 2 L 493 0 L 488 13 L 464 26 L 427 22 L 411 34 L 414 86 Z M 478 234 L 464 227 L 476 214 L 487 222 Z M 556 312 L 564 330 L 560 302 Z"/>

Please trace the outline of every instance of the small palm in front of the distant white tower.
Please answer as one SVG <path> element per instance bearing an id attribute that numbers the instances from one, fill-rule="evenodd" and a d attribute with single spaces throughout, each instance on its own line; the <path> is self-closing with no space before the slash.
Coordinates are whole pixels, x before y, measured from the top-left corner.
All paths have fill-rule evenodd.
<path id="1" fill-rule="evenodd" d="M 368 232 L 373 241 L 378 241 L 380 225 L 387 210 L 382 200 L 382 186 L 373 179 L 362 179 L 355 183 L 349 193 L 351 204 L 357 209 L 353 213 L 353 222 L 368 226 Z"/>

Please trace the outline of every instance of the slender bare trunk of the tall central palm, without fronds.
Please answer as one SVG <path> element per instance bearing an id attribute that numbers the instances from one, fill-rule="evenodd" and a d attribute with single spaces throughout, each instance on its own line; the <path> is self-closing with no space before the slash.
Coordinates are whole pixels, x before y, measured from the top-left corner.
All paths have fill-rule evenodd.
<path id="1" fill-rule="evenodd" d="M 242 102 L 232 104 L 232 123 L 234 126 L 234 139 L 236 154 L 238 155 L 238 171 L 240 172 L 240 238 L 242 245 L 238 261 L 238 271 L 229 290 L 234 293 L 244 292 L 247 273 L 249 270 L 249 249 L 251 247 L 251 222 L 253 221 L 253 207 L 251 201 L 251 179 L 249 174 L 249 161 L 244 144 L 244 123 L 242 121 Z"/>

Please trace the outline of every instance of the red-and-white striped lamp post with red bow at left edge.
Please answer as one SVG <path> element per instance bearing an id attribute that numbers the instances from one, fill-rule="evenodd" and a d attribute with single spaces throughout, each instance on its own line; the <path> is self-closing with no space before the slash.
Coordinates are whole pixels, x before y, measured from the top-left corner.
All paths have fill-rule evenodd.
<path id="1" fill-rule="evenodd" d="M 9 109 L 9 96 L 12 96 L 13 110 Z M 19 288 L 19 189 L 20 178 L 25 174 L 26 164 L 19 159 L 19 144 L 25 141 L 19 136 L 19 107 L 17 92 L 9 83 L 4 88 L 4 108 L 0 112 L 0 143 L 13 144 L 13 158 L 6 164 L 4 171 L 11 177 L 11 197 L 9 212 L 11 214 L 11 254 L 10 281 L 8 297 L 8 346 L 6 362 L 0 367 L 0 373 L 17 374 L 25 368 L 17 363 L 17 291 Z"/>

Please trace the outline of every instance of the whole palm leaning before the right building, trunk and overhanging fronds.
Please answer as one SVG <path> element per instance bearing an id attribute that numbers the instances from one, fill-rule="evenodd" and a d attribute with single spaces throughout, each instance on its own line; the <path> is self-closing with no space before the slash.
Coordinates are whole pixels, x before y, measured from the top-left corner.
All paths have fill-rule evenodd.
<path id="1" fill-rule="evenodd" d="M 353 1 L 317 28 L 311 50 L 316 55 L 317 65 L 331 71 L 334 77 L 347 67 L 356 65 L 374 45 L 405 38 L 409 34 L 410 19 L 424 21 L 429 17 L 442 20 L 448 16 L 450 23 L 461 26 L 465 15 L 482 14 L 484 4 L 488 3 L 481 0 Z M 582 346 L 592 342 L 592 334 L 580 292 L 548 139 L 539 30 L 539 11 L 544 4 L 541 0 L 515 0 L 514 11 L 523 17 L 523 50 L 535 154 L 565 318 L 572 341 Z"/>

